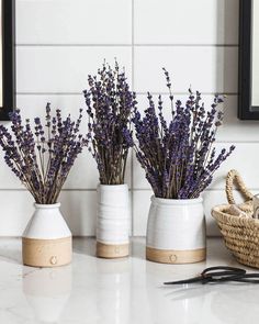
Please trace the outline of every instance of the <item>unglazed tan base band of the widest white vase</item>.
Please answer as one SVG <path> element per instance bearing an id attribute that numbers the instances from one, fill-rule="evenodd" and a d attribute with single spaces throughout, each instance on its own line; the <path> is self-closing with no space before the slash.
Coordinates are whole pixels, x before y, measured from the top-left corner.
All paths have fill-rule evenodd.
<path id="1" fill-rule="evenodd" d="M 206 258 L 206 249 L 158 249 L 154 247 L 146 247 L 146 259 L 149 261 L 160 264 L 194 264 L 203 261 Z"/>

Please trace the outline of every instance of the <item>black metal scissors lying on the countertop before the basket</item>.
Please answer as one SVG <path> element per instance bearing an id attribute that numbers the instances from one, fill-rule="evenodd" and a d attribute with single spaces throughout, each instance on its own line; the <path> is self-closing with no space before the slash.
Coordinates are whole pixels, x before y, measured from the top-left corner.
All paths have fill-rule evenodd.
<path id="1" fill-rule="evenodd" d="M 178 281 L 168 281 L 164 284 L 185 284 L 185 283 L 216 283 L 216 282 L 226 282 L 226 281 L 236 281 L 236 282 L 249 282 L 249 283 L 259 283 L 259 272 L 258 273 L 247 273 L 245 269 L 235 268 L 235 267 L 210 267 L 204 269 L 200 276 Z"/>

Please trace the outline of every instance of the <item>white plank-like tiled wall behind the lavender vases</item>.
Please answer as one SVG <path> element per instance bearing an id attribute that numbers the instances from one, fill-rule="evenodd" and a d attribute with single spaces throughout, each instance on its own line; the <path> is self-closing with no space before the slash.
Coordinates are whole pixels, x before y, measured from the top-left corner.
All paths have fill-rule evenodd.
<path id="1" fill-rule="evenodd" d="M 259 191 L 259 125 L 237 120 L 238 0 L 16 0 L 16 100 L 24 116 L 53 108 L 77 112 L 85 107 L 87 76 L 105 58 L 126 67 L 145 107 L 145 92 L 165 92 L 161 67 L 173 76 L 181 98 L 190 83 L 210 102 L 228 94 L 218 147 L 236 144 L 235 154 L 205 192 L 210 235 L 218 234 L 210 216 L 225 201 L 224 176 L 237 168 Z M 144 235 L 151 191 L 131 156 L 133 235 Z M 75 235 L 94 234 L 98 174 L 91 156 L 77 161 L 61 192 L 63 212 Z M 0 235 L 21 235 L 32 214 L 32 198 L 5 166 L 0 168 Z"/>

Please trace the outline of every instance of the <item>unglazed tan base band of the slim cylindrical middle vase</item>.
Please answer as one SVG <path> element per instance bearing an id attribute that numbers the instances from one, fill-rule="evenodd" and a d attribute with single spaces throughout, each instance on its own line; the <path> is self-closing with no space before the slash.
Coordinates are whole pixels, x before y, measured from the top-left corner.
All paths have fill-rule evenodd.
<path id="1" fill-rule="evenodd" d="M 104 244 L 97 242 L 97 257 L 100 258 L 123 258 L 130 253 L 130 244 Z"/>

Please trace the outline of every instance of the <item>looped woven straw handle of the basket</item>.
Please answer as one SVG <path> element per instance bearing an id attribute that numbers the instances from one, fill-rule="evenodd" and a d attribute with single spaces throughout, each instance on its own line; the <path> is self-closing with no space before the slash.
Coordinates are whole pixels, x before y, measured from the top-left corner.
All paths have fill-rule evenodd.
<path id="1" fill-rule="evenodd" d="M 252 199 L 252 193 L 247 189 L 246 185 L 244 183 L 240 175 L 237 170 L 230 170 L 226 177 L 226 195 L 228 203 L 236 204 L 235 198 L 233 194 L 234 189 L 234 181 L 236 181 L 236 187 L 240 190 L 241 195 L 247 200 Z"/>

